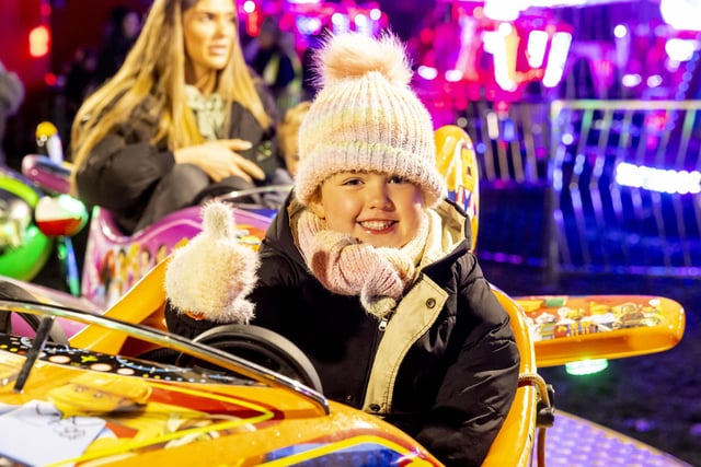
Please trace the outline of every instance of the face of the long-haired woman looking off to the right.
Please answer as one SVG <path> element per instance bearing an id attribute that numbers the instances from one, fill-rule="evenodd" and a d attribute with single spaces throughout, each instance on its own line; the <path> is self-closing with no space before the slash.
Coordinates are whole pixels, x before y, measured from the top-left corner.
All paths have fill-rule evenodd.
<path id="1" fill-rule="evenodd" d="M 222 70 L 237 38 L 237 10 L 232 0 L 199 0 L 183 12 L 187 81 Z"/>

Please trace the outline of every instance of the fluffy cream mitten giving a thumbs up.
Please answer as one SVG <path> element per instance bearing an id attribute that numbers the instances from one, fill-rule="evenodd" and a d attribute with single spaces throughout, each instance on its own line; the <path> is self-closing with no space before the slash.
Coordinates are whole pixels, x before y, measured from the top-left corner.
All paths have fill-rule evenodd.
<path id="1" fill-rule="evenodd" d="M 165 271 L 165 293 L 173 308 L 197 319 L 248 324 L 258 267 L 253 249 L 235 237 L 233 211 L 212 201 L 203 207 L 203 231 L 179 248 Z"/>

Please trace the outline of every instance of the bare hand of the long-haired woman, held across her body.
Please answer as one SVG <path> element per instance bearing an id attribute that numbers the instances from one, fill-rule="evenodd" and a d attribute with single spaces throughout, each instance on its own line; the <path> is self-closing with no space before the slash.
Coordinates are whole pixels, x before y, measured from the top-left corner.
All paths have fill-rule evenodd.
<path id="1" fill-rule="evenodd" d="M 214 182 L 235 175 L 249 183 L 253 178 L 262 180 L 265 173 L 255 162 L 249 161 L 237 151 L 251 149 L 249 141 L 225 139 L 203 144 L 181 148 L 173 153 L 175 163 L 193 164 L 205 171 Z"/>

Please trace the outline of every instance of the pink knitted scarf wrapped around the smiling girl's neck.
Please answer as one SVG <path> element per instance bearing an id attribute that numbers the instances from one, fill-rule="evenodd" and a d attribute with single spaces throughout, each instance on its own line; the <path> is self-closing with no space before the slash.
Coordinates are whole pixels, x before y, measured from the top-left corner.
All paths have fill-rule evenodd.
<path id="1" fill-rule="evenodd" d="M 297 234 L 307 266 L 326 289 L 360 295 L 365 310 L 383 318 L 414 281 L 428 236 L 428 217 L 422 218 L 416 236 L 401 248 L 374 247 L 330 231 L 309 210 L 300 214 Z"/>

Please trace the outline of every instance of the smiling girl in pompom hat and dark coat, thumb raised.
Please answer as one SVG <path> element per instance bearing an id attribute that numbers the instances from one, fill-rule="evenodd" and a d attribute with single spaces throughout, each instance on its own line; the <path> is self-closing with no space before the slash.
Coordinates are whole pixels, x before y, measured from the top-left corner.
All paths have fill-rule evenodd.
<path id="1" fill-rule="evenodd" d="M 309 355 L 326 397 L 383 417 L 446 465 L 478 466 L 519 354 L 468 218 L 444 196 L 430 116 L 395 37 L 335 36 L 320 60 L 294 195 L 257 257 L 227 243 L 226 206 L 205 208 L 204 234 L 168 270 L 169 328 L 275 330 Z"/>

